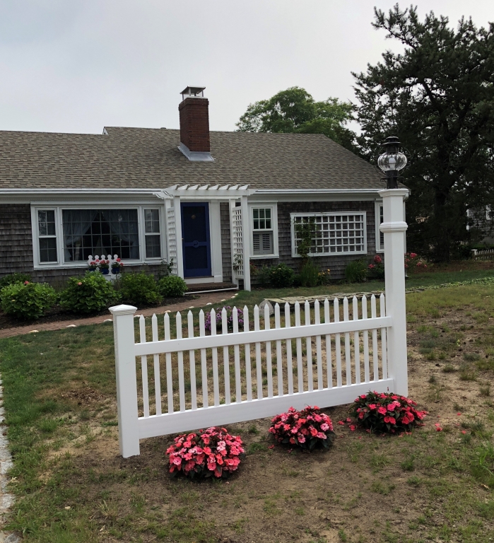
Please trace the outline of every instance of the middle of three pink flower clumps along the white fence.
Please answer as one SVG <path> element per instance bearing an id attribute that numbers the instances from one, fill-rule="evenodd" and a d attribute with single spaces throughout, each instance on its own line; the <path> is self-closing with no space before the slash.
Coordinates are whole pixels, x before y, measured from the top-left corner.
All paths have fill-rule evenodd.
<path id="1" fill-rule="evenodd" d="M 276 415 L 269 432 L 278 443 L 290 443 L 308 450 L 319 444 L 328 448 L 334 438 L 331 419 L 315 405 L 302 411 L 290 407 L 286 413 Z"/>

